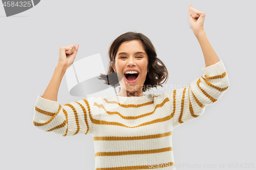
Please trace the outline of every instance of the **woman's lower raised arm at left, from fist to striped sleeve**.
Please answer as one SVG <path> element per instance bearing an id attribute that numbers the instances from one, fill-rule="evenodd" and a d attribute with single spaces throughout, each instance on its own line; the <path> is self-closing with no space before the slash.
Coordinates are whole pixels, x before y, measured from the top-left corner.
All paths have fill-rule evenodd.
<path id="1" fill-rule="evenodd" d="M 59 62 L 44 95 L 38 95 L 35 102 L 33 125 L 46 132 L 62 136 L 90 134 L 90 102 L 86 99 L 60 105 L 57 95 L 60 82 L 77 54 L 78 44 L 59 48 Z"/>

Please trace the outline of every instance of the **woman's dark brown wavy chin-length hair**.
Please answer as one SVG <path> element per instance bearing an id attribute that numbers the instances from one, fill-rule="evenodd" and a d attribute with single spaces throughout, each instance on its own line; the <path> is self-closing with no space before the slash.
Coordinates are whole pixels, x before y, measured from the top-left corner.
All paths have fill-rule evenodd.
<path id="1" fill-rule="evenodd" d="M 115 58 L 119 46 L 126 41 L 139 40 L 142 43 L 142 46 L 148 56 L 148 65 L 147 69 L 149 70 L 146 75 L 146 80 L 144 82 L 142 91 L 149 90 L 157 86 L 163 87 L 161 84 L 166 83 L 168 80 L 168 71 L 164 63 L 157 57 L 155 46 L 152 44 L 151 40 L 148 39 L 142 33 L 137 32 L 127 32 L 119 37 L 117 37 L 109 47 L 109 59 L 110 63 L 108 65 L 109 70 L 108 74 L 100 74 L 98 79 L 104 80 L 104 84 L 110 85 L 112 87 L 120 86 L 118 77 L 115 74 L 115 71 L 112 66 L 115 65 Z M 160 63 L 160 64 L 158 64 Z M 120 92 L 120 89 L 119 89 Z"/>

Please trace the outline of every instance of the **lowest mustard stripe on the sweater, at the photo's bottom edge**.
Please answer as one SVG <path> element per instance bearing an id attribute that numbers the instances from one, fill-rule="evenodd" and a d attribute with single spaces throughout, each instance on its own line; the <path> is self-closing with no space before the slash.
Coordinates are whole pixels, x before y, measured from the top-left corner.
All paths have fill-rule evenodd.
<path id="1" fill-rule="evenodd" d="M 167 164 L 167 165 L 166 165 Z M 165 167 L 170 167 L 175 165 L 174 162 L 168 162 L 168 163 L 161 163 L 158 164 L 161 168 L 161 165 L 165 165 Z M 154 167 L 153 167 L 154 166 Z M 140 166 L 119 166 L 119 167 L 99 167 L 95 170 L 134 170 L 134 169 L 154 169 L 158 167 L 157 165 L 140 165 Z"/>

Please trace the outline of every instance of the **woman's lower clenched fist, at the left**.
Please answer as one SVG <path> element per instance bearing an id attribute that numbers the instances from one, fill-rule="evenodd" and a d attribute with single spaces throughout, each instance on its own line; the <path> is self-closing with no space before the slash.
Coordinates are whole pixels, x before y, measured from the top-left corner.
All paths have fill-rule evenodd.
<path id="1" fill-rule="evenodd" d="M 73 64 L 78 51 L 79 44 L 67 45 L 59 47 L 59 61 L 58 65 L 66 68 L 66 70 Z"/>

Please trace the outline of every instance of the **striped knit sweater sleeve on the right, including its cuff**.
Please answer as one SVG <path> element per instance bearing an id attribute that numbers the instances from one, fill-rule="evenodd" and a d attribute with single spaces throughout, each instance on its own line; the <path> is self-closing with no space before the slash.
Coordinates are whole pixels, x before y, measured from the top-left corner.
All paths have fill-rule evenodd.
<path id="1" fill-rule="evenodd" d="M 173 128 L 200 116 L 205 106 L 217 102 L 229 87 L 225 66 L 219 62 L 203 67 L 203 76 L 190 83 L 188 87 L 168 91 L 172 95 Z"/>

